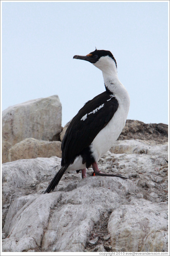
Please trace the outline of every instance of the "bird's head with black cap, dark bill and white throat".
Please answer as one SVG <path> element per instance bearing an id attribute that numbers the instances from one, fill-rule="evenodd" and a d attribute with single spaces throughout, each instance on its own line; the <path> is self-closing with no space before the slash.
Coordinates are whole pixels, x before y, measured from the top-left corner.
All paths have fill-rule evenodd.
<path id="1" fill-rule="evenodd" d="M 95 49 L 94 52 L 86 56 L 75 55 L 73 59 L 89 61 L 104 73 L 110 73 L 110 71 L 113 72 L 113 70 L 117 72 L 116 60 L 110 51 Z"/>

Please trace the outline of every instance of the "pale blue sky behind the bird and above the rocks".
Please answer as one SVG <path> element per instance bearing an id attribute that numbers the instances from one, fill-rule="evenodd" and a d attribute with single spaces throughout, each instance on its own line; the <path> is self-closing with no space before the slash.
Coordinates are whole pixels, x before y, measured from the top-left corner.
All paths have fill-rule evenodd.
<path id="1" fill-rule="evenodd" d="M 109 50 L 129 92 L 128 119 L 168 123 L 168 2 L 2 2 L 2 110 L 59 95 L 64 126 L 104 91 L 91 63 Z"/>

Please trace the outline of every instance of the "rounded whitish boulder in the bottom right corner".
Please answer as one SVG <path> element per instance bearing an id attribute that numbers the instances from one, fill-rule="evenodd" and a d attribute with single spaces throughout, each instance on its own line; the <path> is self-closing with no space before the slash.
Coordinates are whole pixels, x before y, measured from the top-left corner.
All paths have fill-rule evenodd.
<path id="1" fill-rule="evenodd" d="M 168 212 L 161 204 L 145 199 L 119 206 L 108 222 L 112 250 L 168 252 L 167 219 Z"/>

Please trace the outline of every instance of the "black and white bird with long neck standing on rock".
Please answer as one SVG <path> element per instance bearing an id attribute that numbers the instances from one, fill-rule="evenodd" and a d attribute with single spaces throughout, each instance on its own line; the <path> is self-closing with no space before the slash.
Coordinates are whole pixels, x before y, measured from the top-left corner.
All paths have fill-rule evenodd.
<path id="1" fill-rule="evenodd" d="M 105 91 L 85 103 L 70 122 L 61 144 L 61 169 L 56 173 L 45 193 L 58 185 L 65 171 L 82 172 L 86 178 L 86 168 L 92 165 L 95 175 L 121 175 L 103 173 L 97 161 L 114 144 L 123 130 L 129 112 L 130 98 L 119 81 L 117 64 L 110 51 L 97 50 L 86 56 L 75 55 L 74 59 L 86 60 L 103 73 Z"/>

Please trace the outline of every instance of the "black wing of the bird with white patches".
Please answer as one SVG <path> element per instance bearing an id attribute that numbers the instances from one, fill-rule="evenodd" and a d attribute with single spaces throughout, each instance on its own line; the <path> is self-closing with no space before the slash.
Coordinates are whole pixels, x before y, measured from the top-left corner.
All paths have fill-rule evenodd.
<path id="1" fill-rule="evenodd" d="M 104 92 L 85 103 L 70 122 L 64 135 L 61 165 L 70 164 L 87 148 L 112 119 L 119 106 L 114 94 Z"/>

